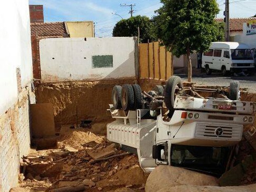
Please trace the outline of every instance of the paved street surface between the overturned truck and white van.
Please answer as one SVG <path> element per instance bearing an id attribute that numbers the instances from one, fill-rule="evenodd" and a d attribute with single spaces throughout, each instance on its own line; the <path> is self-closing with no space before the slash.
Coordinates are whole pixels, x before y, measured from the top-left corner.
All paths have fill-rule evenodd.
<path id="1" fill-rule="evenodd" d="M 187 75 L 178 74 L 185 81 Z M 209 86 L 229 86 L 230 81 L 238 80 L 241 88 L 246 88 L 248 92 L 256 92 L 256 74 L 255 76 L 222 76 L 220 73 L 213 73 L 211 76 L 207 76 L 205 73 L 198 72 L 192 77 L 192 81 L 197 85 L 209 85 Z"/>

